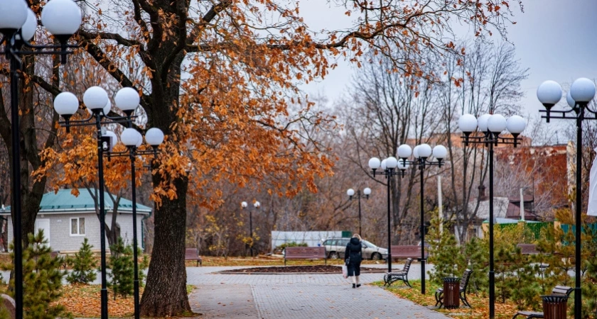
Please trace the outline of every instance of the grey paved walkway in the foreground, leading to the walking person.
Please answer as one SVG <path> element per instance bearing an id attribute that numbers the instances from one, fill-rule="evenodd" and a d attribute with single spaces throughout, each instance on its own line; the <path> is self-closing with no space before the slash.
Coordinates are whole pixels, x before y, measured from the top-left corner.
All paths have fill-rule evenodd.
<path id="1" fill-rule="evenodd" d="M 409 277 L 418 279 L 414 266 Z M 190 295 L 193 311 L 202 318 L 448 318 L 377 286 L 352 289 L 341 274 L 215 274 L 238 268 L 188 267 L 187 282 L 196 287 Z M 361 281 L 382 276 L 363 274 Z"/>

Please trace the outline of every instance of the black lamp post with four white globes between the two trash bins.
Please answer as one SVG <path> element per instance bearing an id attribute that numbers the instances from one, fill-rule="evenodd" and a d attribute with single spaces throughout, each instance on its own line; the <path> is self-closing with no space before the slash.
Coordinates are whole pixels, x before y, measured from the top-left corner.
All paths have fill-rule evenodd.
<path id="1" fill-rule="evenodd" d="M 458 120 L 458 127 L 463 133 L 464 145 L 480 144 L 489 150 L 489 318 L 495 318 L 495 272 L 493 270 L 493 147 L 498 144 L 519 144 L 518 135 L 527 127 L 521 116 L 510 116 L 506 120 L 501 114 L 483 114 L 475 118 L 472 114 L 463 114 Z M 500 136 L 507 130 L 512 135 Z"/>

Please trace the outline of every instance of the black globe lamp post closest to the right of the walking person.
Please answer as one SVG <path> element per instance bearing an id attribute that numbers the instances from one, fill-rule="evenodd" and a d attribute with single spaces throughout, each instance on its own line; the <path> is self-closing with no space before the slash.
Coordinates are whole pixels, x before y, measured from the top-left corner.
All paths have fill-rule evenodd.
<path id="1" fill-rule="evenodd" d="M 399 176 L 404 177 L 406 169 L 409 167 L 409 163 L 398 162 L 396 157 L 390 156 L 387 159 L 380 161 L 377 157 L 369 159 L 369 168 L 372 170 L 373 177 L 375 175 L 383 175 L 387 179 L 387 272 L 392 272 L 392 218 L 390 216 L 390 197 L 389 188 L 392 183 L 392 177 Z M 377 172 L 377 169 L 382 169 L 381 172 Z"/>

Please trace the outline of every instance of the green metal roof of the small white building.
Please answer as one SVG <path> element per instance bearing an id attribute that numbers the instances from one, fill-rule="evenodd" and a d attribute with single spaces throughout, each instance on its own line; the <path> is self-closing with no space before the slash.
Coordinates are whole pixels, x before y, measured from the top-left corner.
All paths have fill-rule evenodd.
<path id="1" fill-rule="evenodd" d="M 71 189 L 60 189 L 55 194 L 53 191 L 43 194 L 39 213 L 51 211 L 95 211 L 95 201 L 87 189 L 79 189 L 79 196 L 70 194 L 70 191 Z M 116 198 L 116 195 L 114 195 L 114 198 Z M 104 192 L 104 206 L 107 211 L 114 209 L 114 202 L 107 192 Z M 120 198 L 119 211 L 132 211 L 132 209 L 132 201 L 129 201 L 127 198 Z M 136 209 L 138 213 L 151 212 L 151 208 L 139 203 L 136 204 Z M 11 211 L 11 208 L 7 206 L 6 212 L 9 211 Z"/>

